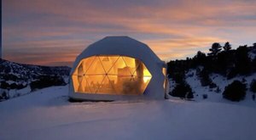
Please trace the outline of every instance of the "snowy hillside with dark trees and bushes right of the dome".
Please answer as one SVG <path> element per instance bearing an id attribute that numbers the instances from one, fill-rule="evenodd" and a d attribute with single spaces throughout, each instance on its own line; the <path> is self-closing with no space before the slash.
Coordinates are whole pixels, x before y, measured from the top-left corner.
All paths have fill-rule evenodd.
<path id="1" fill-rule="evenodd" d="M 210 53 L 198 51 L 193 58 L 170 61 L 169 94 L 196 101 L 256 102 L 255 45 L 221 50 L 213 43 Z"/>

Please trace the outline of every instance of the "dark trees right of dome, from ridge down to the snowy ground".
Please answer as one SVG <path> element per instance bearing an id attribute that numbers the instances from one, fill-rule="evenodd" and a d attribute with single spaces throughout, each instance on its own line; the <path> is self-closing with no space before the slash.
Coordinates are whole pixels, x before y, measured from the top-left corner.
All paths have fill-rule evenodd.
<path id="1" fill-rule="evenodd" d="M 216 92 L 220 91 L 218 85 L 213 83 L 209 77 L 212 73 L 219 74 L 227 79 L 253 74 L 256 71 L 256 43 L 253 43 L 253 46 L 250 47 L 244 45 L 236 49 L 231 48 L 230 42 L 226 42 L 224 46 L 214 42 L 212 47 L 209 48 L 210 53 L 198 51 L 193 58 L 172 60 L 167 63 L 168 76 L 177 83 L 170 94 L 181 98 L 186 98 L 183 96 L 184 94 L 193 94 L 185 81 L 185 74 L 189 69 L 196 70 L 196 75 L 199 77 L 202 87 L 215 88 Z M 250 57 L 251 53 L 253 53 L 253 57 Z M 177 91 L 177 87 L 186 87 L 187 91 Z M 189 95 L 189 97 L 193 98 L 193 95 Z"/>

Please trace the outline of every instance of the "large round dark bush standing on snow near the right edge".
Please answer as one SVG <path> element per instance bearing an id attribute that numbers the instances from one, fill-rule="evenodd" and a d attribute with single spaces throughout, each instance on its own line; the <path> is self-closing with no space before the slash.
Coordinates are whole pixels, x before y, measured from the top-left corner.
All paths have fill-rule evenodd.
<path id="1" fill-rule="evenodd" d="M 246 84 L 242 83 L 241 81 L 233 81 L 230 85 L 225 87 L 223 98 L 238 102 L 245 97 L 246 90 Z"/>

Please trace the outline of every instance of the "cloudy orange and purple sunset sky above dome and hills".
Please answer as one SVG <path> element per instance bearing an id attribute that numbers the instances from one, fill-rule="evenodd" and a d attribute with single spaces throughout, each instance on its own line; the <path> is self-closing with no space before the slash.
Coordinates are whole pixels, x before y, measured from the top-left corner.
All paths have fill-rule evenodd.
<path id="1" fill-rule="evenodd" d="M 69 65 L 104 36 L 131 36 L 163 60 L 212 42 L 256 42 L 255 0 L 2 0 L 3 59 Z"/>

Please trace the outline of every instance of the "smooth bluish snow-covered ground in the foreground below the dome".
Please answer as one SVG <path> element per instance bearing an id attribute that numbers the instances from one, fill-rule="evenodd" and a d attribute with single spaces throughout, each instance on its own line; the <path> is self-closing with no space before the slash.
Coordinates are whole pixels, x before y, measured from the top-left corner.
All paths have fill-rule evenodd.
<path id="1" fill-rule="evenodd" d="M 69 103 L 67 89 L 49 87 L 1 102 L 0 139 L 256 139 L 256 102 Z"/>

